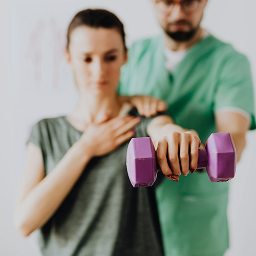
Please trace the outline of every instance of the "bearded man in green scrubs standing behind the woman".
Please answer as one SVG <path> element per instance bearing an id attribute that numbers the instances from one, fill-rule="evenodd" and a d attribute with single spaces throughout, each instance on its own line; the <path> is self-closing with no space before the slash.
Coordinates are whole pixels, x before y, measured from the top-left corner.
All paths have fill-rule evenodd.
<path id="1" fill-rule="evenodd" d="M 245 134 L 255 129 L 253 86 L 245 56 L 200 26 L 207 0 L 151 0 L 163 35 L 129 50 L 119 93 L 164 99 L 178 125 L 198 132 L 203 143 L 229 132 L 239 161 Z M 189 172 L 188 153 L 170 167 L 179 182 L 156 189 L 167 256 L 222 256 L 228 248 L 228 183 L 211 183 Z M 187 164 L 188 163 L 188 164 Z"/>

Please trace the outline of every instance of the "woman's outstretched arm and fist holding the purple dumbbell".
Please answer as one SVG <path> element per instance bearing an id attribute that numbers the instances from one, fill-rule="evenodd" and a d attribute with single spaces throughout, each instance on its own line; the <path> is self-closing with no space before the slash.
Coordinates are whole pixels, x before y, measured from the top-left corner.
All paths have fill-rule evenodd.
<path id="1" fill-rule="evenodd" d="M 201 141 L 197 132 L 183 129 L 169 116 L 158 116 L 147 126 L 147 134 L 157 147 L 157 161 L 169 180 L 194 173 Z"/>

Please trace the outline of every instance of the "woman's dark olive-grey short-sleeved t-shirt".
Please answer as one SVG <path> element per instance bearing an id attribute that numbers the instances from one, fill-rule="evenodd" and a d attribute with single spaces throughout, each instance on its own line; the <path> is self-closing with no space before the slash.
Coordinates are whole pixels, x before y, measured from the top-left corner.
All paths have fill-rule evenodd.
<path id="1" fill-rule="evenodd" d="M 142 118 L 136 137 L 151 119 Z M 48 175 L 81 132 L 65 116 L 39 121 L 28 142 L 40 147 Z M 154 188 L 134 188 L 125 158 L 129 141 L 93 158 L 52 218 L 40 229 L 48 256 L 163 255 Z M 72 169 L 70 169 L 72 172 Z"/>

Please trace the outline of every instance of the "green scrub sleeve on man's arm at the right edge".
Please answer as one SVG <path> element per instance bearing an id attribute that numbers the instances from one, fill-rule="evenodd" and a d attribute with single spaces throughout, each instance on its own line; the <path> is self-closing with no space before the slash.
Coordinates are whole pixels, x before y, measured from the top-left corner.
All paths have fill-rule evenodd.
<path id="1" fill-rule="evenodd" d="M 254 93 L 247 58 L 237 52 L 228 56 L 220 70 L 215 95 L 215 112 L 224 108 L 238 108 L 251 116 L 250 129 L 256 128 L 254 114 Z"/>

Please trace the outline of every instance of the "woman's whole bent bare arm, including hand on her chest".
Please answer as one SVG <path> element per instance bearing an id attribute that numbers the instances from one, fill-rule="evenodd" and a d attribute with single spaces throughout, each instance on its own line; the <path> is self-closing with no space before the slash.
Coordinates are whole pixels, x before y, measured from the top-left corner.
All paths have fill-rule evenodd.
<path id="1" fill-rule="evenodd" d="M 131 129 L 138 122 L 138 118 L 127 116 L 90 125 L 47 176 L 40 148 L 28 143 L 14 216 L 19 232 L 27 237 L 43 226 L 67 197 L 91 158 L 107 154 L 131 139 L 134 135 Z"/>

